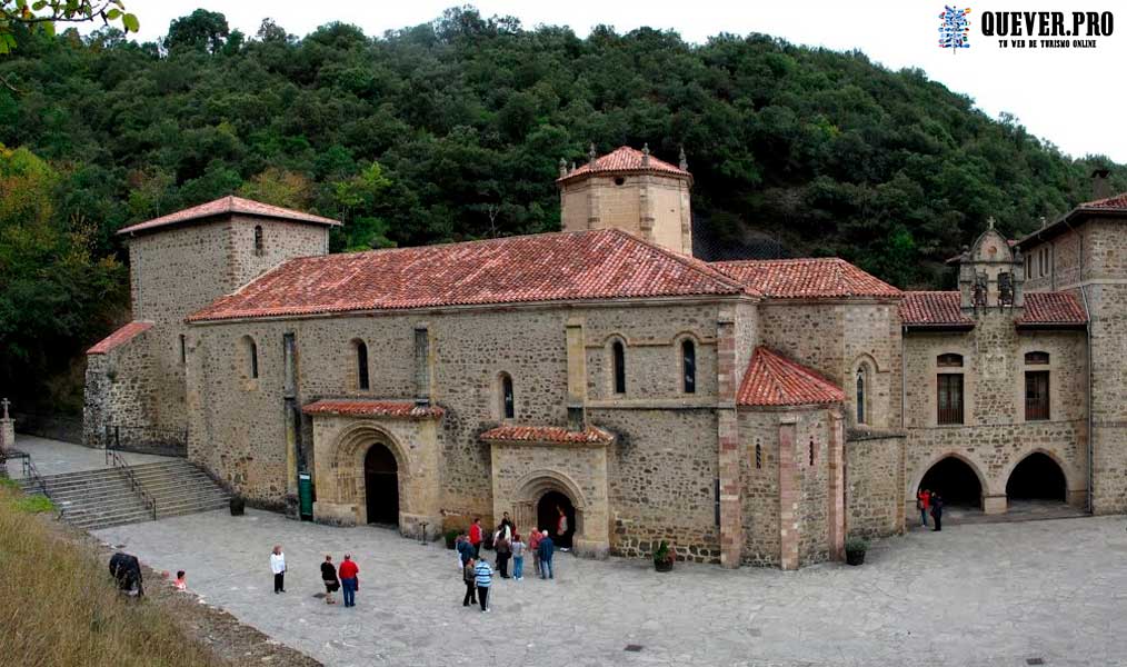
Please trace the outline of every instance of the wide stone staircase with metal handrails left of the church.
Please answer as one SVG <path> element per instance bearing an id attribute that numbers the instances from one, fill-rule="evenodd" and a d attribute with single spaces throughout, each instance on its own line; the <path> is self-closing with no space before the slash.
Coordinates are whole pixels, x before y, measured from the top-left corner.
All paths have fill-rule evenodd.
<path id="1" fill-rule="evenodd" d="M 230 496 L 185 460 L 131 465 L 133 477 L 157 501 L 157 518 L 221 509 Z M 89 531 L 151 521 L 150 509 L 133 490 L 125 471 L 103 468 L 43 475 L 51 499 L 69 523 Z M 28 490 L 28 482 L 24 482 Z M 35 489 L 30 489 L 35 490 Z"/>

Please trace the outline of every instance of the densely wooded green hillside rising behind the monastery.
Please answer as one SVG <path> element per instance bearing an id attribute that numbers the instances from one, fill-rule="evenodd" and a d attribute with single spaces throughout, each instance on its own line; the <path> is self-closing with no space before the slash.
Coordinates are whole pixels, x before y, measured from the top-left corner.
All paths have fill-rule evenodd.
<path id="1" fill-rule="evenodd" d="M 674 162 L 683 145 L 713 235 L 928 286 L 988 215 L 1028 231 L 1090 198 L 1097 163 L 1127 189 L 1122 168 L 923 72 L 764 35 L 580 38 L 464 8 L 378 37 L 242 35 L 198 10 L 160 44 L 17 41 L 0 56 L 0 382 L 41 398 L 73 397 L 74 375 L 41 390 L 126 315 L 114 231 L 231 193 L 344 220 L 335 250 L 433 243 L 558 229 L 558 162 L 591 142 Z"/>

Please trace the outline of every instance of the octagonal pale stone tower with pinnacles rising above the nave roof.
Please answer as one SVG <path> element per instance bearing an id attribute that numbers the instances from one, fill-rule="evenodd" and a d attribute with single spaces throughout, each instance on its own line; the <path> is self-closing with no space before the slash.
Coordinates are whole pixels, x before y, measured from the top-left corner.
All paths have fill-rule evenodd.
<path id="1" fill-rule="evenodd" d="M 693 230 L 685 152 L 678 166 L 649 154 L 649 145 L 620 146 L 587 163 L 568 168 L 560 160 L 560 212 L 564 231 L 621 229 L 674 252 L 692 256 Z"/>

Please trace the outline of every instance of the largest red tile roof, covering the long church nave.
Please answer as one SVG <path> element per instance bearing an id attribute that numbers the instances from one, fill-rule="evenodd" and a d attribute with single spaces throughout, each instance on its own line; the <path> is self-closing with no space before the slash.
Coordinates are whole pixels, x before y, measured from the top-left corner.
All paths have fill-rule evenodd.
<path id="1" fill-rule="evenodd" d="M 188 320 L 744 293 L 699 259 L 594 230 L 291 259 Z"/>

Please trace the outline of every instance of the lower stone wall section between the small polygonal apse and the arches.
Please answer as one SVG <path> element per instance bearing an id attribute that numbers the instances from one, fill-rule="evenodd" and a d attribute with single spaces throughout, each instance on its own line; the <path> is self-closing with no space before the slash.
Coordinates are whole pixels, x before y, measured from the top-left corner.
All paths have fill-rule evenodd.
<path id="1" fill-rule="evenodd" d="M 845 442 L 845 532 L 884 537 L 904 532 L 903 434 L 852 432 Z"/>

